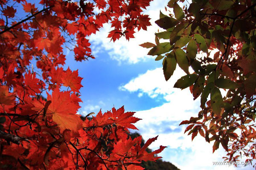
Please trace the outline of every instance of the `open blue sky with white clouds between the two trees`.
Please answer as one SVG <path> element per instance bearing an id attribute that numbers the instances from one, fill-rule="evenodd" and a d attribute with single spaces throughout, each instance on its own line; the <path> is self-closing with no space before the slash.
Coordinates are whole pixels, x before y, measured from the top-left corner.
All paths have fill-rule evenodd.
<path id="1" fill-rule="evenodd" d="M 164 13 L 164 6 L 169 0 L 154 0 L 145 11 L 152 18 L 153 26 L 148 31 L 135 34 L 135 39 L 120 39 L 115 43 L 106 38 L 111 30 L 104 25 L 96 35 L 89 37 L 92 53 L 96 59 L 75 62 L 73 52 L 66 49 L 65 68 L 79 70 L 83 77 L 81 88 L 80 113 L 98 113 L 111 110 L 113 106 L 125 106 L 126 111 L 136 111 L 135 116 L 143 119 L 135 125 L 143 138 L 159 135 L 151 144 L 151 149 L 160 145 L 168 146 L 160 156 L 182 170 L 245 170 L 252 167 L 213 166 L 212 161 L 222 161 L 226 153 L 220 147 L 212 154 L 213 143 L 208 144 L 201 136 L 191 142 L 191 136 L 183 134 L 186 126 L 179 126 L 182 120 L 197 116 L 199 99 L 193 101 L 188 89 L 172 88 L 178 78 L 185 75 L 177 68 L 172 78 L 166 82 L 163 77 L 162 61 L 154 61 L 147 54 L 148 49 L 139 46 L 143 42 L 154 42 L 154 33 L 159 29 L 154 21 L 159 11 Z M 166 13 L 167 14 L 167 13 Z"/>

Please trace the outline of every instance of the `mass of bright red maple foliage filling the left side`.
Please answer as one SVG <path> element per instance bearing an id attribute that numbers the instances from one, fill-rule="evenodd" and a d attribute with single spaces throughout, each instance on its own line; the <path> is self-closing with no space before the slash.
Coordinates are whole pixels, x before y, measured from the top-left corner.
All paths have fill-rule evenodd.
<path id="1" fill-rule="evenodd" d="M 157 137 L 144 146 L 128 138 L 134 112 L 76 114 L 82 78 L 62 68 L 65 47 L 77 61 L 94 58 L 88 36 L 103 23 L 113 41 L 146 30 L 150 1 L 0 0 L 0 169 L 142 170 L 142 160 L 160 158 L 163 146 L 146 152 Z"/>

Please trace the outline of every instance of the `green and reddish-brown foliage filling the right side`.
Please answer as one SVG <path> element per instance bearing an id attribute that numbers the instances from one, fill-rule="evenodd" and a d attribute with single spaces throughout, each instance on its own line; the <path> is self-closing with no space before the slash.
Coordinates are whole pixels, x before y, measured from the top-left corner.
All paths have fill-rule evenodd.
<path id="1" fill-rule="evenodd" d="M 155 22 L 165 31 L 155 34 L 156 45 L 143 45 L 163 59 L 166 81 L 178 65 L 186 76 L 174 87 L 189 88 L 194 100 L 201 95 L 198 116 L 180 123 L 190 124 L 192 140 L 199 133 L 214 142 L 213 152 L 224 147 L 225 160 L 246 156 L 251 162 L 256 159 L 256 1 L 192 0 L 181 8 L 183 2 L 169 1 L 169 15 L 160 11 Z"/>

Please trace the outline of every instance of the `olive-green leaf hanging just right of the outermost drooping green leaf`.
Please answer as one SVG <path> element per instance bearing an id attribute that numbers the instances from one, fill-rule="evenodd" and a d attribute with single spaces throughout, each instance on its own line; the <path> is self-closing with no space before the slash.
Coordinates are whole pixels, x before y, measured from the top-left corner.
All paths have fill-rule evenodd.
<path id="1" fill-rule="evenodd" d="M 186 74 L 189 74 L 189 62 L 186 57 L 186 53 L 181 48 L 177 48 L 177 49 L 174 49 L 174 54 L 180 68 L 183 71 L 185 71 Z"/>

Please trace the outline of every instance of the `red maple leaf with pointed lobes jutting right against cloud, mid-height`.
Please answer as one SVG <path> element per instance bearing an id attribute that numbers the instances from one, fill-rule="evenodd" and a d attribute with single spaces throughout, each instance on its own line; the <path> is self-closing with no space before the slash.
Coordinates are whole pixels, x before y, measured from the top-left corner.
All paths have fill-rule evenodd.
<path id="1" fill-rule="evenodd" d="M 132 123 L 136 123 L 141 119 L 139 119 L 137 117 L 133 117 L 134 113 L 135 112 L 126 112 L 125 113 L 124 106 L 122 106 L 117 111 L 115 108 L 112 108 L 112 114 L 110 114 L 110 117 L 113 120 L 113 122 L 115 122 L 115 124 L 117 126 L 123 126 L 123 127 L 127 127 L 130 129 L 138 130 L 137 127 L 132 125 Z"/>

